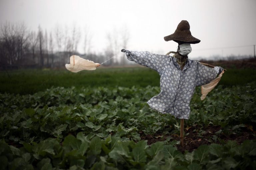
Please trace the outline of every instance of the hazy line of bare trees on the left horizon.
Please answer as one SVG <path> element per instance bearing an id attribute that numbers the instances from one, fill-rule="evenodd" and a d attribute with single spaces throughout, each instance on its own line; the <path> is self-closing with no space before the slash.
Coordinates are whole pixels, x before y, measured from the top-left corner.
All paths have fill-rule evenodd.
<path id="1" fill-rule="evenodd" d="M 126 48 L 129 32 L 126 28 L 106 33 L 106 49 L 96 55 L 91 51 L 92 35 L 88 29 L 83 32 L 75 25 L 71 28 L 55 26 L 50 32 L 38 26 L 31 31 L 24 23 L 5 22 L 0 27 L 0 68 L 61 68 L 69 63 L 71 55 L 102 62 Z M 78 53 L 82 43 L 84 53 Z M 104 65 L 127 64 L 124 57 L 115 57 Z"/>

